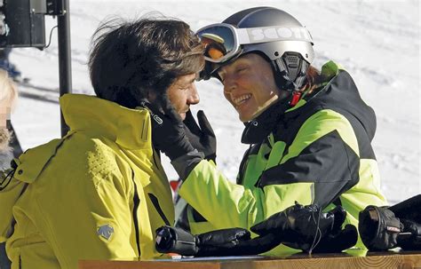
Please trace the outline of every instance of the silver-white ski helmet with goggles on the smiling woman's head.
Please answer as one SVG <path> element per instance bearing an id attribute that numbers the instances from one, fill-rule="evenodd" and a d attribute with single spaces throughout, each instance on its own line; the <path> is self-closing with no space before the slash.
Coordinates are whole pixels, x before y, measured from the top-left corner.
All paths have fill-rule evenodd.
<path id="1" fill-rule="evenodd" d="M 248 52 L 263 54 L 272 63 L 278 87 L 295 91 L 305 82 L 313 62 L 313 39 L 289 13 L 274 7 L 236 12 L 222 23 L 197 31 L 205 46 L 201 77 L 218 77 L 219 67 Z"/>

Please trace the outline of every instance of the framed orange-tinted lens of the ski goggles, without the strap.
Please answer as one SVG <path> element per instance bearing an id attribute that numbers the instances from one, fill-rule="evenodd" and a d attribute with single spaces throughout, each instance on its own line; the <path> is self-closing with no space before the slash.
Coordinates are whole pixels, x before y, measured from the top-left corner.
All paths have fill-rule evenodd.
<path id="1" fill-rule="evenodd" d="M 234 29 L 226 26 L 210 26 L 197 32 L 204 47 L 207 61 L 222 63 L 230 59 L 238 51 L 238 43 Z"/>

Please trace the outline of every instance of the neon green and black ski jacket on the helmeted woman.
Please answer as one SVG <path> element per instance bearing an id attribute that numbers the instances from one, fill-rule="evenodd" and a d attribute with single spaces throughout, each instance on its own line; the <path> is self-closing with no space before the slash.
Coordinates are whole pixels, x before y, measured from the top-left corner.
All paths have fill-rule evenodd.
<path id="1" fill-rule="evenodd" d="M 179 194 L 202 215 L 197 218 L 188 208 L 193 233 L 249 229 L 294 202 L 317 203 L 325 210 L 340 204 L 347 211 L 344 225 L 358 227 L 358 214 L 366 206 L 387 204 L 371 147 L 374 111 L 361 99 L 351 75 L 334 62 L 322 67 L 322 75 L 329 80 L 321 91 L 304 96 L 284 114 L 269 107 L 266 121 L 256 124 L 252 135 L 249 130 L 255 137 L 265 128 L 269 132 L 244 154 L 237 184 L 212 162 L 203 160 L 191 170 Z M 356 247 L 365 248 L 361 239 Z M 269 254 L 290 252 L 294 250 L 281 246 Z"/>

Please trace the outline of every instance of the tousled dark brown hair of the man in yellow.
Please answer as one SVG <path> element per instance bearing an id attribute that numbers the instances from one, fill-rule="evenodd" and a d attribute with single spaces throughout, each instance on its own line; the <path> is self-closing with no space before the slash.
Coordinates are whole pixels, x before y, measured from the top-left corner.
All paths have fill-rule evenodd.
<path id="1" fill-rule="evenodd" d="M 197 73 L 203 65 L 203 46 L 181 20 L 108 20 L 92 36 L 93 89 L 99 98 L 123 107 L 138 107 L 151 91 L 165 99 L 177 77 Z"/>

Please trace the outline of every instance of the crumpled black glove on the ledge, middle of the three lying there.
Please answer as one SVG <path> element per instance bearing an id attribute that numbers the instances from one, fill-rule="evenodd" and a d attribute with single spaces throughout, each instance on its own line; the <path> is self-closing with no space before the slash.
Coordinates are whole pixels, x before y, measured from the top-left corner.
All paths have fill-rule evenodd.
<path id="1" fill-rule="evenodd" d="M 250 230 L 258 235 L 272 233 L 277 241 L 294 249 L 336 252 L 352 247 L 357 241 L 355 227 L 341 230 L 345 216 L 341 207 L 322 213 L 317 205 L 303 206 L 296 202 Z M 331 242 L 340 244 L 330 246 Z"/>

